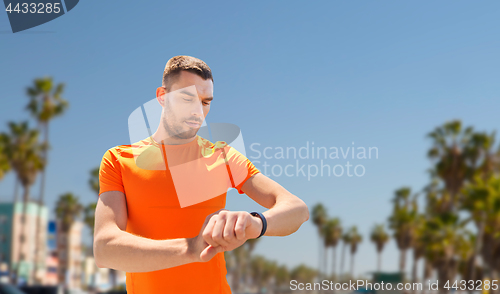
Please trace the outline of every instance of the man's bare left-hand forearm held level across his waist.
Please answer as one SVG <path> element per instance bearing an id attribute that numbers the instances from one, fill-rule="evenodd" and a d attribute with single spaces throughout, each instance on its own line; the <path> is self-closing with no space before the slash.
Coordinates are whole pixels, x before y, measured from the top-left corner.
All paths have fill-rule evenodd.
<path id="1" fill-rule="evenodd" d="M 195 262 L 191 239 L 153 240 L 118 228 L 96 234 L 94 257 L 99 267 L 149 272 Z"/>

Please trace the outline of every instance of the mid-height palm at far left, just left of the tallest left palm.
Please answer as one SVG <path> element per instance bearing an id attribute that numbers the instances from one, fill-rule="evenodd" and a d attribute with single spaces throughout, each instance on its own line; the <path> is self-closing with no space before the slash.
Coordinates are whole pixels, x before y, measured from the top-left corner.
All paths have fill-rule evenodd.
<path id="1" fill-rule="evenodd" d="M 38 142 L 38 130 L 30 129 L 28 122 L 9 123 L 9 134 L 2 135 L 5 155 L 21 186 L 23 187 L 23 210 L 21 213 L 20 250 L 18 256 L 17 275 L 15 283 L 19 282 L 20 264 L 25 261 L 23 248 L 26 244 L 26 219 L 30 198 L 30 188 L 36 180 L 37 174 L 43 169 L 45 161 L 41 154 L 46 145 Z M 38 243 L 36 239 L 35 243 Z M 37 259 L 35 258 L 35 263 Z"/>

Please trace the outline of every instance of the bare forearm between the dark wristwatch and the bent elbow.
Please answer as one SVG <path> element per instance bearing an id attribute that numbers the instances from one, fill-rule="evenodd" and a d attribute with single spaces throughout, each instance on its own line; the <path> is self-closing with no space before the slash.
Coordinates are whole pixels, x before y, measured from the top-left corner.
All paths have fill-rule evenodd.
<path id="1" fill-rule="evenodd" d="M 265 236 L 290 235 L 309 219 L 307 205 L 291 194 L 277 197 L 275 205 L 263 214 L 267 220 Z"/>

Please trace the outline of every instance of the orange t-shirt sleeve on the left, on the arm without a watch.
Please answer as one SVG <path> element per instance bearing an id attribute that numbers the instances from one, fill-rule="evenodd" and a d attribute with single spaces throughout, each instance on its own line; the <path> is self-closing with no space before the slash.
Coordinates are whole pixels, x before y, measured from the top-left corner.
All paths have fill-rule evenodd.
<path id="1" fill-rule="evenodd" d="M 121 191 L 125 193 L 120 162 L 111 149 L 104 153 L 101 166 L 99 167 L 99 195 L 108 191 Z"/>

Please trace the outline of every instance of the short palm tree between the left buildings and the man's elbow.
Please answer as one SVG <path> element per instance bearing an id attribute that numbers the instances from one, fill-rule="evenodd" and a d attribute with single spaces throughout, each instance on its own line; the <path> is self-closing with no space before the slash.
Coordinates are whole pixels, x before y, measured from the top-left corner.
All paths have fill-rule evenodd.
<path id="1" fill-rule="evenodd" d="M 82 210 L 83 206 L 78 201 L 78 197 L 73 195 L 73 193 L 68 192 L 59 196 L 55 207 L 55 214 L 58 221 L 57 225 L 60 227 L 58 231 L 61 234 L 61 238 L 69 238 L 71 227 L 82 213 Z M 68 246 L 69 241 L 66 241 L 62 244 Z M 68 248 L 65 248 L 63 251 L 68 252 Z M 59 251 L 59 253 L 61 254 L 62 252 Z M 61 258 L 61 260 L 68 261 L 67 258 Z M 66 272 L 68 266 L 68 264 L 59 264 L 59 271 L 61 273 Z M 59 279 L 60 283 L 66 284 L 66 279 L 64 279 L 64 276 L 59 276 Z"/>

